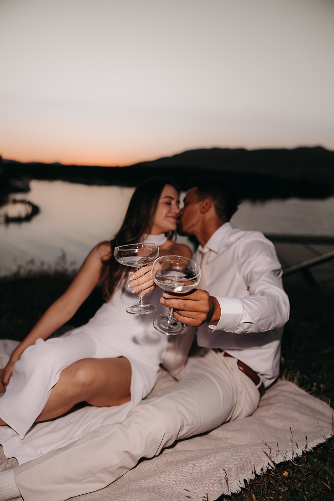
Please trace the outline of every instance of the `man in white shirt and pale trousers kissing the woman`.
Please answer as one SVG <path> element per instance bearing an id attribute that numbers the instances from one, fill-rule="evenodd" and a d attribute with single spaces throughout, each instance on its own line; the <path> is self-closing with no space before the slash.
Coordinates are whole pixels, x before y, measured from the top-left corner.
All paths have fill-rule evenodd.
<path id="1" fill-rule="evenodd" d="M 189 358 L 181 382 L 140 402 L 123 422 L 1 473 L 0 501 L 20 493 L 25 501 L 64 501 L 100 489 L 176 439 L 253 413 L 278 376 L 289 306 L 272 243 L 233 229 L 236 210 L 237 197 L 216 180 L 195 180 L 184 200 L 182 228 L 199 241 L 202 278 L 198 290 L 164 292 L 161 302 L 198 327 L 204 349 Z"/>

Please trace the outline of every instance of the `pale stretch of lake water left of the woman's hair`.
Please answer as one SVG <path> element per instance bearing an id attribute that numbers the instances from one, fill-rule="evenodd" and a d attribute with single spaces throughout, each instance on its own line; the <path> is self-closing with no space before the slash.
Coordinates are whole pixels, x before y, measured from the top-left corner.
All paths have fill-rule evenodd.
<path id="1" fill-rule="evenodd" d="M 2 275 L 34 258 L 53 264 L 64 249 L 68 262 L 82 263 L 99 241 L 120 226 L 134 188 L 31 181 L 29 199 L 41 212 L 29 223 L 0 225 Z M 27 197 L 17 193 L 15 198 Z M 15 260 L 15 261 L 13 261 Z"/>

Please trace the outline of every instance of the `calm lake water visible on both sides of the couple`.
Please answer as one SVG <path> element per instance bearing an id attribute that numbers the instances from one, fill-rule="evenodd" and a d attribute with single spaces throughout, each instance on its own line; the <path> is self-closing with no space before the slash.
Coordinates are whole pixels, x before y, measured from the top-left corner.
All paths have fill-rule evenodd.
<path id="1" fill-rule="evenodd" d="M 63 181 L 30 183 L 29 193 L 13 194 L 38 205 L 30 222 L 0 224 L 0 272 L 35 260 L 53 265 L 62 250 L 78 267 L 99 241 L 110 239 L 120 226 L 134 188 L 89 186 Z M 231 223 L 264 233 L 334 236 L 334 197 L 324 200 L 244 201 Z M 179 238 L 179 240 L 184 240 Z"/>

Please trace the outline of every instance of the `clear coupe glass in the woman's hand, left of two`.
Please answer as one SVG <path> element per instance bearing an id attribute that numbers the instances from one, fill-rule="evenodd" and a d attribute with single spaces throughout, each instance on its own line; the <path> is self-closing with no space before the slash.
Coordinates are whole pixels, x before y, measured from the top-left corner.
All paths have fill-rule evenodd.
<path id="1" fill-rule="evenodd" d="M 142 266 L 149 265 L 159 256 L 159 247 L 156 243 L 128 243 L 127 245 L 119 245 L 115 247 L 115 259 L 122 265 L 135 268 L 136 272 Z M 138 305 L 129 306 L 127 312 L 132 315 L 146 315 L 153 313 L 157 309 L 155 305 L 145 304 L 143 298 L 138 293 Z"/>

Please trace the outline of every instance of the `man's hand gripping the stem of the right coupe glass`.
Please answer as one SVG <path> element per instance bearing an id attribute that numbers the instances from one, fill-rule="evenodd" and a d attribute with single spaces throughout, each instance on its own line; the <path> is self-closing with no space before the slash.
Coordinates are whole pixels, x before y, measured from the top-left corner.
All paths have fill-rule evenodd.
<path id="1" fill-rule="evenodd" d="M 174 317 L 186 325 L 198 327 L 208 322 L 217 325 L 220 319 L 220 306 L 215 297 L 201 289 L 193 289 L 188 294 L 163 293 L 160 303 L 174 308 Z"/>

